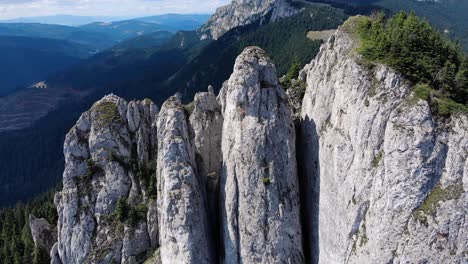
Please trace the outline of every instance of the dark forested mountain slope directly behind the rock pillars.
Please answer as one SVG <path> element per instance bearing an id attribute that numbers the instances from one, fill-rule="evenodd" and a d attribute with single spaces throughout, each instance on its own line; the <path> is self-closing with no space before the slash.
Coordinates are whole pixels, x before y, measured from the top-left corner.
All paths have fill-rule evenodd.
<path id="1" fill-rule="evenodd" d="M 300 6 L 304 7 L 303 4 Z M 348 13 L 357 10 L 349 5 L 344 9 Z M 156 104 L 161 104 L 168 96 L 180 91 L 183 100 L 188 101 L 209 84 L 219 90 L 229 77 L 237 54 L 250 45 L 265 47 L 277 62 L 279 75 L 283 75 L 293 62 L 304 64 L 318 52 L 321 41 L 307 40 L 307 32 L 338 26 L 347 17 L 346 12 L 314 5 L 274 24 L 253 23 L 235 28 L 216 41 L 199 41 L 200 36 L 195 32 L 180 33 L 163 46 L 145 44 L 144 48 L 138 45 L 137 48 L 131 45 L 128 49 L 116 48 L 50 76 L 51 87 L 57 88 L 52 98 L 60 100 L 59 107 L 48 110 L 51 112 L 40 122 L 33 122 L 32 127 L 5 132 L 0 139 L 0 157 L 6 157 L 0 159 L 0 169 L 4 172 L 2 201 L 10 203 L 30 197 L 57 181 L 63 168 L 60 146 L 64 134 L 79 113 L 104 94 L 116 93 L 127 99 L 150 97 Z M 43 161 L 50 166 L 42 166 Z M 25 163 L 28 166 L 23 166 Z M 42 181 L 44 186 L 35 184 L 37 179 L 46 179 Z M 31 194 L 15 192 L 19 188 L 29 190 Z"/>

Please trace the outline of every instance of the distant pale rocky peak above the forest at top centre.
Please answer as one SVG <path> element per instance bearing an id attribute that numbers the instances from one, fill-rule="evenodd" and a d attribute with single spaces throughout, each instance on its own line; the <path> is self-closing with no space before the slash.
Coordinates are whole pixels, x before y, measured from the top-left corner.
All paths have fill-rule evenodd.
<path id="1" fill-rule="evenodd" d="M 199 30 L 202 39 L 218 39 L 235 27 L 254 22 L 274 22 L 299 12 L 288 0 L 233 0 L 216 13 Z"/>

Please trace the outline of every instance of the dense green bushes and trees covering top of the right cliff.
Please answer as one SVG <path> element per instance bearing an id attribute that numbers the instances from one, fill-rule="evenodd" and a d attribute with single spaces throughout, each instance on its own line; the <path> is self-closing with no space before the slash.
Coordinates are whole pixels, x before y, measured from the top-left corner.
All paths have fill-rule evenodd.
<path id="1" fill-rule="evenodd" d="M 417 98 L 431 103 L 440 116 L 466 111 L 468 57 L 414 13 L 383 13 L 359 20 L 360 54 L 405 75 L 415 85 Z"/>

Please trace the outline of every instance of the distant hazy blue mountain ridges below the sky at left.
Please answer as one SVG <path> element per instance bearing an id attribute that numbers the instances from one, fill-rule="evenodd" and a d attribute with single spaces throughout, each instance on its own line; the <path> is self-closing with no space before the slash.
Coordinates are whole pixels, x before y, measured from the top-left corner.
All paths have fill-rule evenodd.
<path id="1" fill-rule="evenodd" d="M 208 15 L 167 14 L 116 22 L 92 22 L 78 27 L 37 23 L 46 18 L 30 18 L 22 23 L 0 23 L 0 36 L 4 36 L 0 42 L 0 54 L 4 55 L 3 63 L 9 65 L 1 68 L 0 96 L 42 81 L 49 74 L 112 46 L 122 48 L 137 42 L 142 44 L 135 44 L 133 47 L 142 48 L 152 45 L 144 44 L 145 42 L 158 39 L 165 41 L 178 30 L 195 30 L 207 17 Z M 60 18 L 75 21 L 77 17 Z M 79 18 L 85 21 L 95 17 Z M 110 19 L 112 18 L 107 18 Z M 34 23 L 29 23 L 33 21 Z M 148 36 L 150 39 L 139 39 L 141 36 Z M 132 40 L 133 38 L 136 40 Z M 129 42 L 125 43 L 127 40 Z M 47 41 L 50 46 L 45 44 Z"/>

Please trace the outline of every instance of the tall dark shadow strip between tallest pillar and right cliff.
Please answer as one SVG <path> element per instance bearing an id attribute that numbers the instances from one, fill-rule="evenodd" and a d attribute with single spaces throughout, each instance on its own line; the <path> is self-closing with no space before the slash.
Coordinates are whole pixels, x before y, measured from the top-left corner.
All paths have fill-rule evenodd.
<path id="1" fill-rule="evenodd" d="M 319 141 L 315 122 L 306 117 L 296 123 L 296 146 L 304 254 L 307 263 L 319 260 L 320 163 Z"/>

